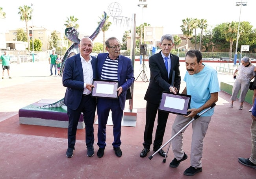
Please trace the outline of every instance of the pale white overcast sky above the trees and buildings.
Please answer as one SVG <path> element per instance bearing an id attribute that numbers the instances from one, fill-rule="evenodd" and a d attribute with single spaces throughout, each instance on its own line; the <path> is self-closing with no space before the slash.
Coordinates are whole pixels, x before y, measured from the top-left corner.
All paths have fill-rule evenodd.
<path id="1" fill-rule="evenodd" d="M 143 1 L 143 0 L 142 0 Z M 109 6 L 117 2 L 120 5 L 120 17 L 126 18 L 120 24 L 113 21 L 115 11 L 109 11 Z M 236 2 L 247 2 L 247 6 L 236 6 Z M 33 6 L 31 6 L 33 4 Z M 147 8 L 138 7 L 138 4 L 147 4 Z M 15 30 L 25 28 L 25 21 L 20 20 L 19 7 L 24 5 L 31 6 L 33 9 L 32 21 L 29 26 L 43 27 L 47 30 L 57 30 L 65 32 L 65 21 L 67 17 L 78 18 L 77 29 L 81 34 L 91 35 L 98 26 L 104 11 L 109 15 L 112 23 L 109 30 L 105 33 L 106 38 L 117 37 L 122 41 L 122 35 L 130 30 L 133 24 L 132 17 L 135 16 L 136 26 L 147 23 L 150 26 L 163 27 L 164 34 L 182 34 L 180 26 L 182 20 L 186 18 L 206 19 L 210 29 L 224 23 L 248 21 L 253 29 L 256 28 L 255 7 L 256 0 L 84 0 L 84 1 L 53 1 L 53 0 L 4 0 L 0 7 L 6 13 L 5 19 L 0 19 L 2 30 Z M 5 25 L 3 25 L 5 24 Z M 198 30 L 199 32 L 199 30 Z M 100 32 L 95 42 L 102 42 L 103 33 Z"/>

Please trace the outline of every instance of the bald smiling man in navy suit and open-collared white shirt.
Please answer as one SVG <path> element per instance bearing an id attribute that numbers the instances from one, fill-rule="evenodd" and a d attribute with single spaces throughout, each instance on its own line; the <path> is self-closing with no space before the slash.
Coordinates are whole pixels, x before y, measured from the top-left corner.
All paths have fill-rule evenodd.
<path id="1" fill-rule="evenodd" d="M 73 157 L 76 143 L 76 129 L 81 113 L 85 123 L 85 143 L 87 156 L 94 155 L 94 119 L 96 98 L 91 98 L 93 78 L 96 78 L 97 59 L 91 56 L 93 41 L 89 37 L 81 39 L 78 45 L 80 53 L 65 62 L 62 84 L 67 87 L 64 103 L 69 116 L 68 149 L 66 156 Z"/>

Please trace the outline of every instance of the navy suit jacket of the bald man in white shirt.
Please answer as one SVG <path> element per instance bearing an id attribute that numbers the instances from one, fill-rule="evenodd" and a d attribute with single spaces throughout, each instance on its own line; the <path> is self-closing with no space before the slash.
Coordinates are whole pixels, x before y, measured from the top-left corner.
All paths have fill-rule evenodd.
<path id="1" fill-rule="evenodd" d="M 97 58 L 94 56 L 91 56 L 91 58 L 93 78 L 96 78 Z M 84 84 L 80 53 L 66 60 L 62 75 L 62 84 L 64 87 L 67 87 L 64 97 L 64 104 L 72 110 L 78 109 L 82 100 Z"/>

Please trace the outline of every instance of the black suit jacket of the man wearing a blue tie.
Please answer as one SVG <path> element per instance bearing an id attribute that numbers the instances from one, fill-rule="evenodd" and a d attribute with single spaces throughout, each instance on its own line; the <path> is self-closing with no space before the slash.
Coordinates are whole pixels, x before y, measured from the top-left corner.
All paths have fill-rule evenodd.
<path id="1" fill-rule="evenodd" d="M 168 78 L 165 63 L 161 55 L 161 51 L 152 55 L 148 59 L 148 65 L 150 68 L 150 82 L 144 100 L 153 104 L 159 104 L 163 91 L 170 91 L 173 71 L 175 70 L 174 87 L 180 90 L 180 61 L 179 57 L 173 54 L 171 55 L 171 70 Z"/>

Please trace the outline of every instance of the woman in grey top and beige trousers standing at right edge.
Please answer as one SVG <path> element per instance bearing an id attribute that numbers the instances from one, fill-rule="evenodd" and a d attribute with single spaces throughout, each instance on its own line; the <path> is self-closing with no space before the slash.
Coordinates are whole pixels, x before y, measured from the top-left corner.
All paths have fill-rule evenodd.
<path id="1" fill-rule="evenodd" d="M 232 89 L 230 108 L 233 108 L 233 103 L 234 101 L 236 101 L 239 90 L 241 90 L 239 96 L 239 110 L 243 109 L 243 102 L 245 101 L 245 96 L 248 92 L 250 81 L 255 76 L 254 67 L 255 66 L 250 63 L 249 57 L 243 57 L 241 59 L 241 65 L 238 66 L 233 74 L 233 77 L 235 77 L 236 73 L 239 71 L 239 74 L 237 74 L 237 78 Z"/>

